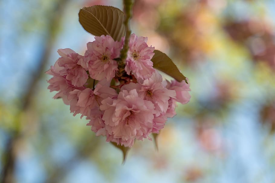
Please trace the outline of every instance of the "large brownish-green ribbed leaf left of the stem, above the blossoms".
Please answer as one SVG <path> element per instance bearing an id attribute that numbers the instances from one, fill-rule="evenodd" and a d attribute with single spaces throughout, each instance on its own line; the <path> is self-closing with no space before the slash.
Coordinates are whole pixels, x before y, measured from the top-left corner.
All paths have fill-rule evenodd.
<path id="1" fill-rule="evenodd" d="M 79 11 L 82 27 L 95 36 L 109 35 L 120 41 L 125 34 L 124 13 L 112 6 L 95 5 Z"/>

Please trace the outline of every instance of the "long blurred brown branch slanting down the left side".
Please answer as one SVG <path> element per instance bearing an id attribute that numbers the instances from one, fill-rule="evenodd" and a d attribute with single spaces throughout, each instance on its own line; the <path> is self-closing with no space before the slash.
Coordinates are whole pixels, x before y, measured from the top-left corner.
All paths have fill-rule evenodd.
<path id="1" fill-rule="evenodd" d="M 37 91 L 35 88 L 37 86 L 38 81 L 44 74 L 45 65 L 47 64 L 47 61 L 50 56 L 50 52 L 52 50 L 53 44 L 55 43 L 55 39 L 57 36 L 57 27 L 59 27 L 61 17 L 64 11 L 64 7 L 66 7 L 67 2 L 69 0 L 59 0 L 56 2 L 55 6 L 52 9 L 52 14 L 49 14 L 49 21 L 47 24 L 47 27 L 45 28 L 45 32 L 47 32 L 47 36 L 45 37 L 45 47 L 44 52 L 38 62 L 37 69 L 32 73 L 32 75 L 29 77 L 30 81 L 27 86 L 27 91 L 25 91 L 25 94 L 22 95 L 21 100 L 22 101 L 18 108 L 18 113 L 15 114 L 15 120 L 13 121 L 15 123 L 15 126 L 17 127 L 14 129 L 12 133 L 10 133 L 10 137 L 8 139 L 7 146 L 5 148 L 5 152 L 3 153 L 3 170 L 2 170 L 2 176 L 1 176 L 1 182 L 14 182 L 14 167 L 15 162 L 17 159 L 17 152 L 15 150 L 15 145 L 17 144 L 18 140 L 24 137 L 24 131 L 21 129 L 22 123 L 24 121 L 22 120 L 22 114 L 24 114 L 27 109 L 31 105 L 32 96 L 35 95 L 35 91 Z"/>

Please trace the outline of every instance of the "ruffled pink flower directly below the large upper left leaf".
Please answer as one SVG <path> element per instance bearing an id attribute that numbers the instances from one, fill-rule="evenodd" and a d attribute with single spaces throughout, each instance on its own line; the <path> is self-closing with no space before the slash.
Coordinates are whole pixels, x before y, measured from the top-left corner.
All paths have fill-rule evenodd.
<path id="1" fill-rule="evenodd" d="M 95 41 L 87 43 L 85 60 L 88 63 L 90 77 L 96 80 L 106 78 L 108 81 L 115 77 L 118 70 L 117 61 L 122 42 L 114 41 L 111 36 L 95 36 Z"/>

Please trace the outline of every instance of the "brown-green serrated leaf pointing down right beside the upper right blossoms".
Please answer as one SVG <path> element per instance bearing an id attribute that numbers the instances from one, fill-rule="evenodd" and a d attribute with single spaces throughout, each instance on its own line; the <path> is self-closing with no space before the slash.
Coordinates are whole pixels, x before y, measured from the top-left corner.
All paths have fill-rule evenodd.
<path id="1" fill-rule="evenodd" d="M 155 55 L 151 59 L 153 67 L 173 77 L 178 82 L 185 80 L 188 84 L 186 77 L 180 72 L 175 63 L 165 53 L 154 50 Z"/>

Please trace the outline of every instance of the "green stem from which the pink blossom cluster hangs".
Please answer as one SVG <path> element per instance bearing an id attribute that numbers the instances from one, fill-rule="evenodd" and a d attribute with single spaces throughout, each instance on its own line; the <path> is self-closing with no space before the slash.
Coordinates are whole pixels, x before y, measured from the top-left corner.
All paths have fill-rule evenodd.
<path id="1" fill-rule="evenodd" d="M 118 71 L 116 73 L 117 77 L 122 76 L 124 68 L 125 68 L 125 59 L 127 57 L 127 52 L 129 49 L 129 39 L 131 35 L 131 29 L 130 29 L 130 18 L 132 16 L 132 5 L 133 5 L 133 0 L 123 0 L 124 4 L 124 13 L 125 13 L 125 21 L 124 25 L 126 27 L 125 31 L 125 39 L 124 39 L 124 45 L 123 48 L 120 51 L 120 59 L 118 60 Z"/>

